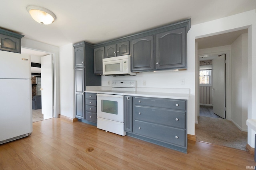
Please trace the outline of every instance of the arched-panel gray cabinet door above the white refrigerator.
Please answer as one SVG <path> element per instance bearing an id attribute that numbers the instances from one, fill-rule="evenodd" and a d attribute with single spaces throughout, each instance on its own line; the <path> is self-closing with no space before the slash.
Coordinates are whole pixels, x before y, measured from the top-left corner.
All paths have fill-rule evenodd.
<path id="1" fill-rule="evenodd" d="M 0 34 L 0 50 L 21 53 L 20 39 Z"/>

